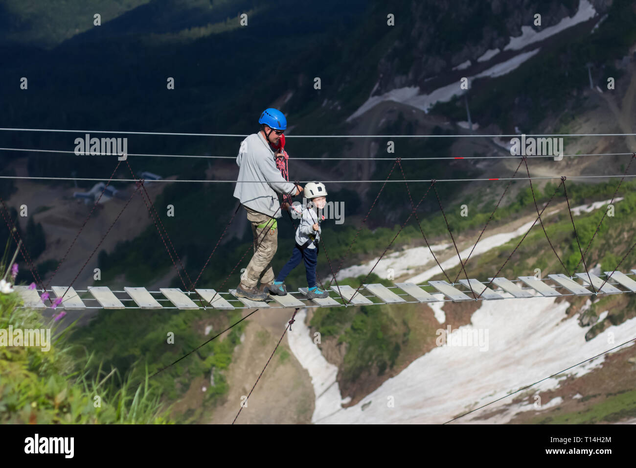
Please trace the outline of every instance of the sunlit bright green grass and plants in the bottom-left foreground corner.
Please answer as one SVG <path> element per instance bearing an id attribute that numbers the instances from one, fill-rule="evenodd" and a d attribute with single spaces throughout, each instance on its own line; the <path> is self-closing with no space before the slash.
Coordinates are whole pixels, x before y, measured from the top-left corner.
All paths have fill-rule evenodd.
<path id="1" fill-rule="evenodd" d="M 3 262 L 0 269 L 6 266 Z M 52 337 L 57 324 L 23 306 L 17 292 L 0 292 L 0 330 L 48 329 L 52 343 L 48 351 L 0 346 L 0 423 L 172 422 L 160 401 L 162 389 L 149 381 L 147 368 L 136 383 L 119 369 L 106 371 L 94 352 L 82 354 L 69 343 L 66 330 Z"/>

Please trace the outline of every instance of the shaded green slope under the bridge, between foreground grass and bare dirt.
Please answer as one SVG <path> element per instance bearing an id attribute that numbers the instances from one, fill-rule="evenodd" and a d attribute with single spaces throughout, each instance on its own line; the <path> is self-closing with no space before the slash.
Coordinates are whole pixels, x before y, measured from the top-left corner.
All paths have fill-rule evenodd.
<path id="1" fill-rule="evenodd" d="M 74 343 L 86 346 L 121 372 L 142 379 L 137 367 L 140 357 L 148 362 L 150 374 L 166 367 L 205 341 L 199 331 L 203 323 L 214 322 L 214 330 L 225 329 L 230 323 L 240 319 L 240 312 L 224 313 L 211 317 L 210 310 L 195 311 L 100 311 L 97 317 L 83 329 L 76 330 Z M 194 378 L 210 378 L 214 369 L 214 385 L 208 385 L 205 404 L 214 405 L 225 397 L 228 386 L 223 371 L 232 362 L 232 353 L 244 330 L 245 322 L 239 323 L 188 358 L 172 365 L 153 377 L 152 381 L 163 389 L 167 398 L 174 401 L 190 388 Z M 174 334 L 174 344 L 169 343 Z M 117 337 L 117 339 L 113 339 Z M 93 366 L 94 369 L 94 366 Z"/>

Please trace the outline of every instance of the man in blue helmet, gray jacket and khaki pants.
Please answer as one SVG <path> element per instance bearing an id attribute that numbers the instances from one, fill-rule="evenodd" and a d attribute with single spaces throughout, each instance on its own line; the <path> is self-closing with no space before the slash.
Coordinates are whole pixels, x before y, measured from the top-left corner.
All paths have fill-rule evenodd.
<path id="1" fill-rule="evenodd" d="M 237 156 L 240 169 L 234 196 L 247 211 L 254 236 L 254 255 L 240 277 L 237 295 L 265 301 L 270 292 L 268 287 L 276 278 L 270 266 L 278 247 L 276 218 L 281 216 L 276 192 L 295 196 L 303 193 L 303 187 L 286 181 L 276 166 L 275 157 L 280 153 L 275 153 L 275 149 L 287 128 L 285 116 L 269 108 L 261 114 L 258 123 L 261 130 L 242 141 Z M 260 289 L 256 287 L 258 281 L 261 281 Z"/>

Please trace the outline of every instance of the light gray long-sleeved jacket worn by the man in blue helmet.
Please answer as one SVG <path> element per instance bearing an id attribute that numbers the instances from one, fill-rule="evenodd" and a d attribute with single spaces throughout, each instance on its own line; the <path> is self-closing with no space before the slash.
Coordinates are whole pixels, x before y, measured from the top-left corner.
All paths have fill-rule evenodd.
<path id="1" fill-rule="evenodd" d="M 248 208 L 280 218 L 280 202 L 276 192 L 293 195 L 296 185 L 283 178 L 274 157 L 275 153 L 260 132 L 245 138 L 237 156 L 240 169 L 234 196 Z"/>

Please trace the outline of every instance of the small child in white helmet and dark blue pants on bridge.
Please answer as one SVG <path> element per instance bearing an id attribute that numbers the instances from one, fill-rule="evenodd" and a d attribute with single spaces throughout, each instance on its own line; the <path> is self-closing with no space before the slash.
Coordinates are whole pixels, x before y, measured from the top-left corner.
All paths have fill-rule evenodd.
<path id="1" fill-rule="evenodd" d="M 318 243 L 320 241 L 321 227 L 318 209 L 324 208 L 327 201 L 325 195 L 327 190 L 321 182 L 309 182 L 305 185 L 305 198 L 310 200 L 307 207 L 302 210 L 303 216 L 296 229 L 296 245 L 291 253 L 291 258 L 287 264 L 282 267 L 276 280 L 268 287 L 272 294 L 285 295 L 287 288 L 283 284 L 286 276 L 300 264 L 300 260 L 305 260 L 305 273 L 307 274 L 307 298 L 328 297 L 329 293 L 316 287 L 316 265 L 318 264 Z M 285 209 L 296 209 L 289 206 L 288 203 L 283 204 Z M 297 211 L 297 210 L 296 210 Z M 322 216 L 324 218 L 324 216 Z"/>

